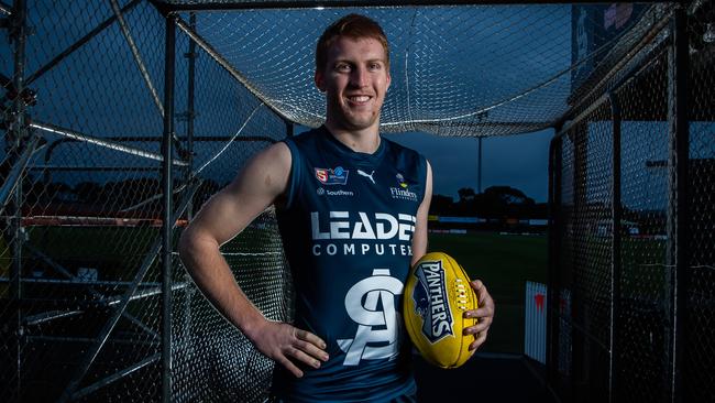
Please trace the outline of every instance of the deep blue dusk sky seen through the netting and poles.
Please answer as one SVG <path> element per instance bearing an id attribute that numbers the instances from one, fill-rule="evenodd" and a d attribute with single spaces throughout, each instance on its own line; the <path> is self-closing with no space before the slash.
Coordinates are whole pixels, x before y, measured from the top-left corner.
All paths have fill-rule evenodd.
<path id="1" fill-rule="evenodd" d="M 73 4 L 73 7 L 78 7 L 78 3 Z M 503 99 L 508 99 L 514 94 L 520 94 L 524 88 L 530 88 L 535 81 L 541 83 L 552 77 L 554 72 L 570 65 L 570 8 L 558 6 L 540 8 L 537 10 L 537 14 L 527 12 L 524 7 L 508 9 L 484 7 L 474 10 L 479 10 L 481 23 L 473 28 L 471 23 L 466 23 L 466 20 L 471 20 L 468 18 L 469 15 L 461 13 L 461 9 L 437 8 L 433 10 L 440 21 L 450 22 L 450 24 L 457 24 L 455 19 L 465 19 L 463 21 L 464 26 L 471 28 L 473 31 L 459 31 L 459 34 L 462 35 L 460 37 L 479 36 L 479 41 L 475 40 L 479 42 L 479 46 L 469 45 L 465 41 L 452 37 L 450 39 L 452 41 L 450 45 L 446 45 L 444 48 L 429 45 L 429 43 L 424 44 L 420 42 L 421 40 L 413 43 L 410 42 L 411 36 L 404 30 L 400 31 L 407 22 L 414 22 L 415 19 L 419 18 L 426 33 L 435 32 L 431 36 L 425 36 L 424 40 L 430 37 L 440 41 L 446 40 L 447 36 L 442 35 L 441 32 L 451 30 L 450 26 L 452 25 L 441 26 L 435 24 L 427 9 L 420 9 L 420 12 L 406 10 L 404 13 L 400 13 L 399 10 L 364 10 L 385 22 L 386 30 L 393 39 L 395 47 L 393 75 L 395 77 L 407 77 L 404 72 L 406 56 L 403 56 L 403 54 L 409 51 L 411 52 L 409 53 L 411 63 L 425 61 L 425 67 L 418 70 L 420 75 L 409 76 L 413 79 L 413 87 L 410 87 L 413 90 L 427 91 L 424 94 L 428 94 L 429 89 L 436 91 L 435 94 L 439 96 L 448 89 L 453 90 L 452 92 L 448 91 L 449 96 L 444 99 L 435 98 L 433 100 L 437 102 L 435 105 L 425 104 L 427 100 L 432 100 L 427 95 L 413 101 L 413 110 L 424 109 L 422 112 L 426 113 L 425 117 L 427 118 L 435 118 L 431 112 L 438 107 L 451 108 L 440 112 L 442 115 L 438 117 L 443 118 L 465 110 L 470 111 L 475 108 L 496 105 Z M 29 41 L 29 72 L 35 72 L 57 52 L 78 40 L 80 34 L 95 26 L 105 15 L 111 14 L 111 9 L 105 6 L 98 6 L 97 10 L 79 8 L 68 12 L 68 14 L 73 15 L 72 19 L 54 19 L 55 12 L 56 9 L 50 2 L 44 8 L 33 8 L 31 12 L 32 21 L 37 22 L 37 34 L 33 35 Z M 324 102 L 312 84 L 312 43 L 322 26 L 343 12 L 332 10 L 330 12 L 326 11 L 324 15 L 323 13 L 310 14 L 315 21 L 304 23 L 300 28 L 302 31 L 292 28 L 292 30 L 295 29 L 294 31 L 297 30 L 293 33 L 297 36 L 293 34 L 286 36 L 286 34 L 279 33 L 266 35 L 265 31 L 260 29 L 262 25 L 256 25 L 254 19 L 264 19 L 266 22 L 282 21 L 288 18 L 290 13 L 299 14 L 298 11 L 202 13 L 200 14 L 204 23 L 201 32 L 212 40 L 215 46 L 222 48 L 226 55 L 237 57 L 235 61 L 231 59 L 232 63 L 240 66 L 240 69 L 246 76 L 252 77 L 252 75 L 255 75 L 256 83 L 275 84 L 276 88 L 270 87 L 267 84 L 264 86 L 265 88 L 262 87 L 270 95 L 268 98 L 273 99 L 273 92 L 271 91 L 278 91 L 278 94 L 283 94 L 284 90 L 289 94 L 297 91 L 295 97 L 288 97 L 288 99 L 297 102 L 296 105 L 300 108 L 305 107 L 312 110 L 310 108 L 315 107 L 315 105 Z M 157 92 L 161 94 L 163 78 L 161 32 L 163 30 L 163 19 L 151 6 L 144 3 L 128 13 L 125 18 L 130 26 L 132 26 L 134 41 L 152 76 L 152 81 L 158 89 Z M 252 30 L 245 32 L 242 29 L 244 25 L 252 28 Z M 272 26 L 276 26 L 276 24 L 274 23 Z M 143 30 L 146 30 L 146 32 Z M 241 34 L 229 37 L 222 35 L 226 30 L 234 35 Z M 535 35 L 535 32 L 539 30 L 546 30 L 549 35 Z M 470 32 L 472 33 L 470 34 Z M 217 37 L 211 37 L 211 34 Z M 457 35 L 457 33 L 454 34 Z M 535 37 L 542 37 L 542 41 L 535 44 L 531 42 Z M 287 41 L 288 39 L 293 40 Z M 178 35 L 178 40 L 179 54 L 183 54 L 188 41 L 186 35 L 183 34 Z M 141 78 L 132 53 L 125 42 L 119 28 L 112 25 L 74 52 L 48 74 L 35 80 L 32 87 L 38 90 L 40 96 L 37 105 L 32 108 L 33 118 L 37 121 L 51 122 L 100 138 L 147 134 L 161 137 L 161 115 L 150 97 L 146 84 Z M 262 43 L 265 46 L 256 47 L 254 46 L 255 43 Z M 293 55 L 292 57 L 295 61 L 293 58 L 289 61 L 295 62 L 295 65 L 287 63 L 283 58 L 280 63 L 264 63 L 272 61 L 271 57 L 266 56 L 266 54 L 272 55 L 271 53 L 260 53 L 268 52 L 265 48 L 273 48 L 268 45 L 275 45 L 277 50 L 283 50 L 280 53 L 276 53 L 277 55 Z M 290 50 L 290 52 L 286 50 Z M 531 55 L 526 52 L 527 50 L 531 50 L 535 54 Z M 437 51 L 447 53 L 433 53 Z M 497 51 L 503 51 L 501 58 L 496 58 L 496 55 L 501 54 Z M 9 52 L 9 46 L 0 48 L 0 70 L 6 75 L 11 73 L 10 61 L 12 58 Z M 455 57 L 457 54 L 469 55 L 470 63 L 462 63 L 465 59 Z M 446 64 L 450 59 L 452 59 L 451 64 Z M 197 135 L 232 135 L 242 127 L 256 100 L 252 96 L 248 96 L 246 90 L 233 77 L 218 67 L 205 54 L 200 54 L 198 61 Z M 263 62 L 254 66 L 252 63 L 257 63 L 256 61 Z M 184 87 L 186 66 L 186 61 L 179 58 L 176 72 L 178 81 L 176 89 L 178 97 L 176 101 L 177 112 L 186 110 L 184 105 L 186 99 L 184 96 L 186 91 Z M 457 68 L 457 66 L 461 68 Z M 471 66 L 471 69 L 466 68 L 468 66 Z M 482 68 L 480 66 L 491 66 L 493 70 L 497 70 L 499 74 L 490 75 L 491 70 L 480 70 Z M 527 77 L 515 73 L 526 68 L 531 72 L 531 76 Z M 275 76 L 268 76 L 267 74 L 273 70 L 275 70 Z M 481 72 L 479 75 L 475 74 L 477 70 Z M 440 74 L 439 77 L 432 77 L 437 73 Z M 287 74 L 287 76 L 280 74 Z M 273 78 L 268 79 L 266 77 Z M 449 77 L 449 79 L 444 80 L 440 77 Z M 479 79 L 474 77 L 479 77 Z M 391 92 L 395 94 L 392 96 L 395 107 L 387 109 L 384 113 L 385 122 L 404 118 L 397 113 L 402 113 L 403 109 L 405 109 L 400 104 L 404 101 L 404 94 L 403 98 L 398 96 L 402 94 L 400 90 L 405 91 L 405 83 L 403 81 L 404 79 L 398 80 L 396 78 L 395 85 L 391 87 Z M 473 86 L 462 88 L 465 83 L 471 83 Z M 514 88 L 505 86 L 504 83 L 509 83 Z M 541 97 L 548 98 L 550 95 L 568 94 L 569 75 L 562 75 L 558 83 L 544 87 L 540 92 L 535 92 L 530 97 L 524 97 L 510 102 L 509 105 L 514 104 L 510 107 L 505 106 L 491 110 L 492 119 L 494 121 L 550 121 L 553 116 L 559 115 L 558 111 L 564 108 L 563 99 L 547 102 L 543 110 L 540 108 L 529 109 L 526 106 L 530 105 L 529 102 L 541 102 Z M 419 87 L 418 84 L 426 87 Z M 428 88 L 427 84 L 435 84 L 435 88 Z M 304 105 L 305 97 L 316 97 L 316 101 Z M 276 98 L 283 99 L 277 96 Z M 524 102 L 524 105 L 520 102 Z M 508 116 L 503 116 L 502 109 L 506 110 Z M 529 116 L 530 112 L 534 112 L 535 116 Z M 184 134 L 184 126 L 179 123 L 177 128 L 178 134 Z M 256 121 L 246 128 L 245 133 L 263 134 L 262 130 L 264 129 L 268 129 L 268 126 L 265 124 L 264 120 L 256 118 Z M 273 129 L 271 127 L 270 130 Z M 280 126 L 278 129 L 283 130 L 283 127 Z M 300 129 L 297 131 L 299 132 Z M 43 135 L 51 140 L 57 138 L 50 133 L 43 133 Z M 279 135 L 279 133 L 276 135 Z M 546 202 L 548 149 L 552 135 L 552 130 L 544 130 L 536 133 L 484 138 L 482 189 L 495 185 L 506 185 L 522 190 L 528 197 L 537 202 Z M 451 196 L 457 199 L 458 190 L 462 187 L 477 189 L 479 141 L 476 138 L 438 137 L 428 133 L 388 134 L 388 138 L 417 150 L 430 161 L 435 172 L 435 194 Z M 158 143 L 135 143 L 133 145 L 154 152 L 158 151 Z M 223 143 L 197 145 L 195 150 L 199 153 L 197 163 L 208 160 L 222 145 Z M 90 166 L 102 164 L 143 166 L 152 164 L 151 161 L 140 161 L 135 156 L 110 150 L 100 150 L 87 144 L 81 146 L 79 144 L 67 145 L 66 151 L 56 153 L 53 162 L 61 165 L 73 164 L 80 154 L 84 156 L 85 163 Z M 228 152 L 207 170 L 206 176 L 217 182 L 228 181 L 235 174 L 238 166 L 238 163 L 231 163 L 231 159 L 235 159 L 239 154 L 238 151 Z M 105 179 L 114 179 L 127 174 L 107 173 L 103 175 Z M 101 182 L 98 175 L 90 175 L 89 173 L 75 175 L 76 177 L 73 178 L 67 176 L 69 175 L 55 173 L 53 177 L 69 185 L 80 181 Z"/>

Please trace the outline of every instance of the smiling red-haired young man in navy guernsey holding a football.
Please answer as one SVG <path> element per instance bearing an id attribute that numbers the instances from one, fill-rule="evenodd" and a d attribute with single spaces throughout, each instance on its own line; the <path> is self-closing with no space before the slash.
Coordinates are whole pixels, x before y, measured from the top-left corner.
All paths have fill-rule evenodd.
<path id="1" fill-rule="evenodd" d="M 326 123 L 255 155 L 185 230 L 182 260 L 217 308 L 276 366 L 284 401 L 410 401 L 415 382 L 403 329 L 408 270 L 427 251 L 429 163 L 381 138 L 391 83 L 382 29 L 346 15 L 318 42 L 315 81 Z M 219 247 L 275 204 L 296 288 L 294 324 L 267 320 L 237 285 Z M 481 306 L 472 349 L 494 303 Z"/>

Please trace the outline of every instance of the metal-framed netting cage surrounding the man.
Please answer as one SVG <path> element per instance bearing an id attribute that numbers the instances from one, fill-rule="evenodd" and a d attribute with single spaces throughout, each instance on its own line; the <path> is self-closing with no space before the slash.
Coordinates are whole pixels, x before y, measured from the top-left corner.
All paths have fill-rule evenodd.
<path id="1" fill-rule="evenodd" d="M 391 0 L 0 2 L 1 399 L 266 397 L 273 363 L 198 292 L 176 239 L 252 154 L 322 122 L 315 42 L 349 12 L 391 41 L 383 131 L 556 129 L 552 392 L 707 401 L 712 1 Z M 290 320 L 273 210 L 222 253 Z"/>

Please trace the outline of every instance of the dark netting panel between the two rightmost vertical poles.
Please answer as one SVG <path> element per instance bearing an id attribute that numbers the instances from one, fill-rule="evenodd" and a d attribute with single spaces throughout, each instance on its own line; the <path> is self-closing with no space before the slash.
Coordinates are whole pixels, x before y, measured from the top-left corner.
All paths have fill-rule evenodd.
<path id="1" fill-rule="evenodd" d="M 619 342 L 618 388 L 623 399 L 650 400 L 666 393 L 663 359 L 668 298 L 666 215 L 668 123 L 667 54 L 659 54 L 618 90 L 622 105 L 622 275 L 615 337 Z M 645 120 L 642 117 L 650 117 Z M 663 120 L 653 122 L 652 120 Z"/>

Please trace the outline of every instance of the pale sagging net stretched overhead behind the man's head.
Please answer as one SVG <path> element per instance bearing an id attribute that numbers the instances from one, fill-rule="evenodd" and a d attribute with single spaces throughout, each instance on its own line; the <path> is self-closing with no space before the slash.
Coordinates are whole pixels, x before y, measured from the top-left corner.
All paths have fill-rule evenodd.
<path id="1" fill-rule="evenodd" d="M 326 105 L 314 84 L 317 37 L 351 11 L 204 12 L 196 30 L 260 99 L 289 120 L 316 127 Z M 392 85 L 381 117 L 386 132 L 495 135 L 550 127 L 569 108 L 573 69 L 616 40 L 598 37 L 598 48 L 572 64 L 568 4 L 360 11 L 381 23 L 391 41 Z M 647 11 L 634 11 L 632 23 Z"/>

